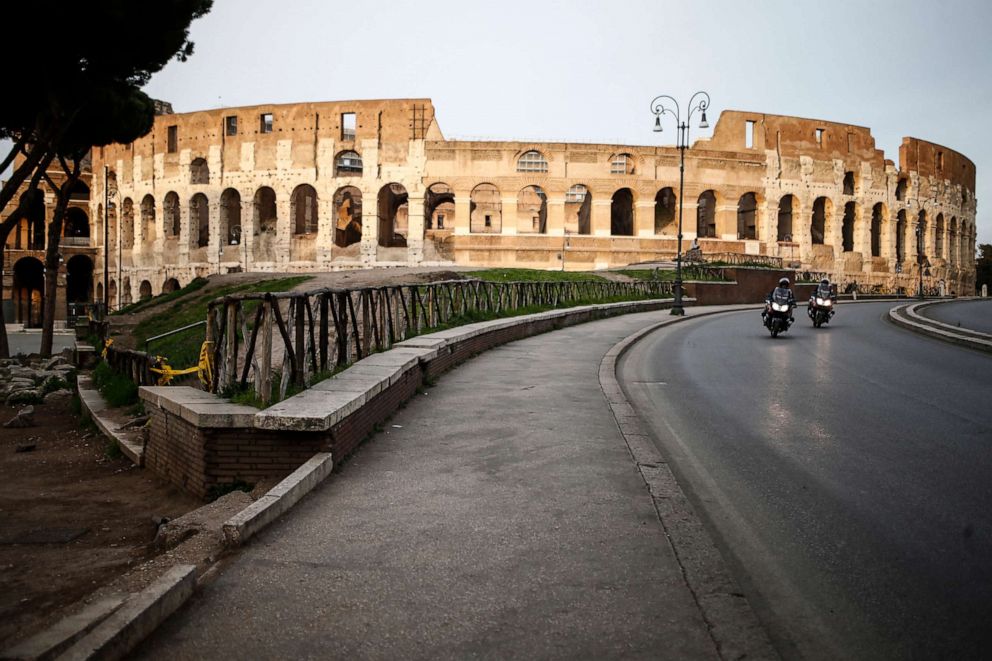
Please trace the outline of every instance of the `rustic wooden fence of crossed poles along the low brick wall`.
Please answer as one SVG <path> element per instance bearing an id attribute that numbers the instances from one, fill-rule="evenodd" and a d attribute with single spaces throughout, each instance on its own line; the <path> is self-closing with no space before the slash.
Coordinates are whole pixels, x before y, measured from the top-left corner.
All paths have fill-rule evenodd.
<path id="1" fill-rule="evenodd" d="M 270 401 L 273 357 L 282 354 L 280 399 L 289 384 L 307 387 L 318 373 L 385 351 L 396 342 L 475 314 L 528 306 L 568 307 L 621 297 L 670 295 L 668 282 L 511 282 L 453 280 L 363 289 L 235 294 L 209 304 L 212 390 L 247 387 Z"/>

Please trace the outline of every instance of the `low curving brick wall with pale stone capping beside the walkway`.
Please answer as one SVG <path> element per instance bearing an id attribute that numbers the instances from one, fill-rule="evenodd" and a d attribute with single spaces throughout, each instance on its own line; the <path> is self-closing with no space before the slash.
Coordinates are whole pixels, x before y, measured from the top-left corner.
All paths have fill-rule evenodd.
<path id="1" fill-rule="evenodd" d="M 237 480 L 255 483 L 281 479 L 317 452 L 330 452 L 335 465 L 340 465 L 426 381 L 476 354 L 557 328 L 670 305 L 671 301 L 659 300 L 587 306 L 556 311 L 555 314 L 539 313 L 473 324 L 463 327 L 461 336 L 458 333 L 461 329 L 453 329 L 414 338 L 406 344 L 434 343 L 439 349 L 431 351 L 429 358 L 415 362 L 399 378 L 326 429 L 319 426 L 313 427 L 312 431 L 262 428 L 266 423 L 259 420 L 261 412 L 256 409 L 233 405 L 192 388 L 143 387 L 140 395 L 151 415 L 145 466 L 184 491 L 206 498 L 210 489 L 217 485 Z M 487 326 L 491 326 L 491 330 L 487 330 Z M 360 363 L 356 363 L 356 367 L 358 365 Z M 387 382 L 388 378 L 383 381 Z M 297 397 L 314 397 L 312 393 L 304 391 Z M 280 406 L 292 408 L 293 399 L 287 399 Z M 253 421 L 253 426 L 247 426 L 249 421 Z"/>

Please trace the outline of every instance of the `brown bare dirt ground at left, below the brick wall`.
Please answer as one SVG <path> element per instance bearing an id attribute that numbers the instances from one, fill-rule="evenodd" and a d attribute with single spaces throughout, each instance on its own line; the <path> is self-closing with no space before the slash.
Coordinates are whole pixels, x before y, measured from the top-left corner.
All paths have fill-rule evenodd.
<path id="1" fill-rule="evenodd" d="M 16 413 L 0 405 L 0 423 Z M 80 427 L 68 399 L 35 406 L 35 422 L 0 427 L 0 649 L 154 556 L 153 517 L 202 505 L 110 458 L 106 439 Z"/>

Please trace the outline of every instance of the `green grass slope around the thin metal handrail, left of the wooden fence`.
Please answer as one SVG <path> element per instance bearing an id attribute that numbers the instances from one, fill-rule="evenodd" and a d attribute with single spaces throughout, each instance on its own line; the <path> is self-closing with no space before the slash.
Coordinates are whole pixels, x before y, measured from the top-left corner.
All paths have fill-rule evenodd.
<path id="1" fill-rule="evenodd" d="M 310 279 L 312 279 L 312 276 L 303 275 L 228 285 L 227 287 L 220 287 L 206 294 L 187 298 L 170 306 L 168 310 L 163 310 L 135 326 L 134 337 L 137 341 L 137 348 L 143 350 L 144 342 L 149 337 L 154 337 L 155 335 L 166 333 L 176 328 L 182 328 L 198 321 L 205 321 L 207 318 L 207 304 L 221 296 L 249 292 L 268 293 L 289 291 L 293 287 Z M 245 303 L 242 305 L 242 309 L 245 316 L 250 317 L 251 311 L 254 308 L 250 303 Z M 200 345 L 203 344 L 204 335 L 205 327 L 197 326 L 188 331 L 156 340 L 148 347 L 148 350 L 152 355 L 165 356 L 168 359 L 169 366 L 174 369 L 192 367 L 196 365 L 199 359 Z"/>

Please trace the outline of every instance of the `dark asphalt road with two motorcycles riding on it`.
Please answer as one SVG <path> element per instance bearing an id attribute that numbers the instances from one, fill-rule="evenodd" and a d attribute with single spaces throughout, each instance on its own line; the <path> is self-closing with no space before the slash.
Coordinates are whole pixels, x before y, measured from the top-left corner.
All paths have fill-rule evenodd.
<path id="1" fill-rule="evenodd" d="M 788 658 L 992 653 L 992 356 L 889 307 L 690 320 L 619 366 Z"/>

